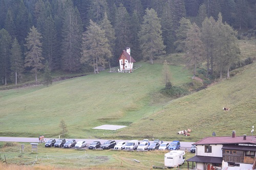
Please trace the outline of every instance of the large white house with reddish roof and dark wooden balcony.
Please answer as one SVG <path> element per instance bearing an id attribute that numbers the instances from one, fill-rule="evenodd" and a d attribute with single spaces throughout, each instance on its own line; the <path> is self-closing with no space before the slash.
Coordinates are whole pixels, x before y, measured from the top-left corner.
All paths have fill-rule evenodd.
<path id="1" fill-rule="evenodd" d="M 230 136 L 205 137 L 193 145 L 196 156 L 186 160 L 187 168 L 189 163 L 194 168 L 195 163 L 195 168 L 202 170 L 255 169 L 256 136 L 236 136 L 232 131 Z"/>

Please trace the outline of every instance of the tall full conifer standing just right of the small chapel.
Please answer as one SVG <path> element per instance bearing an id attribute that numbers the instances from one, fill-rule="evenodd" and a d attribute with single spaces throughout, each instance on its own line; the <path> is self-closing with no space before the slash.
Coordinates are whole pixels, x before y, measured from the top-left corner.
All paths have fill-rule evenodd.
<path id="1" fill-rule="evenodd" d="M 146 9 L 143 19 L 139 32 L 140 45 L 144 58 L 149 57 L 150 63 L 153 64 L 155 56 L 165 53 L 160 19 L 154 9 Z"/>

